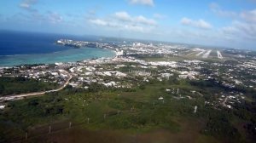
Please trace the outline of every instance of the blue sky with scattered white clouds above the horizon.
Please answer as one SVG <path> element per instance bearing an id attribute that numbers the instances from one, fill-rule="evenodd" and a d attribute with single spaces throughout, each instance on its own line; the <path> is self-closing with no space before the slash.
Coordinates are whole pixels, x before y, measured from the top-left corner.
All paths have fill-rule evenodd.
<path id="1" fill-rule="evenodd" d="M 256 49 L 256 0 L 1 0 L 0 29 Z"/>

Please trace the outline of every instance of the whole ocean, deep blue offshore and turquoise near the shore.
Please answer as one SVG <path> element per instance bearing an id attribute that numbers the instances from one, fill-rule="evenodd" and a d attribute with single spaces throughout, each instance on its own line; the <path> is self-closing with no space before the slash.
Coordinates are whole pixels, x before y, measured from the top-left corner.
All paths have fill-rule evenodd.
<path id="1" fill-rule="evenodd" d="M 60 38 L 96 41 L 97 37 L 75 37 L 60 34 L 45 34 L 23 31 L 0 31 L 0 66 L 23 64 L 51 64 L 113 57 L 109 49 L 72 47 L 55 44 Z"/>

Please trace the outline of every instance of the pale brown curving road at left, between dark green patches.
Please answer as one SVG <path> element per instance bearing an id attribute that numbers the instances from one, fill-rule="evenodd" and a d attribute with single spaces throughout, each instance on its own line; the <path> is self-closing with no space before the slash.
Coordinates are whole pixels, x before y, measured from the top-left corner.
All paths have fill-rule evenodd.
<path id="1" fill-rule="evenodd" d="M 68 72 L 67 72 L 68 73 Z M 34 96 L 34 95 L 41 95 L 41 94 L 46 94 L 46 93 L 52 93 L 52 92 L 57 92 L 60 91 L 61 89 L 64 89 L 67 84 L 69 83 L 70 79 L 72 78 L 72 76 L 68 73 L 68 78 L 66 83 L 64 83 L 59 89 L 52 89 L 52 90 L 48 90 L 48 91 L 40 91 L 40 92 L 34 92 L 34 93 L 27 93 L 27 94 L 12 94 L 12 95 L 6 95 L 3 97 L 0 97 L 0 101 L 5 101 L 5 100 L 20 100 L 23 97 L 27 97 L 27 96 Z"/>

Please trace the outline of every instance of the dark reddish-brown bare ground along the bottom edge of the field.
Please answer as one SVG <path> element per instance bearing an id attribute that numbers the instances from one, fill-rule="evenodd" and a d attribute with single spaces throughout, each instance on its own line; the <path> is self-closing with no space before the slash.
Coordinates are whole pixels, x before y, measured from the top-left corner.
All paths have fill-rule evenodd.
<path id="1" fill-rule="evenodd" d="M 219 141 L 211 136 L 200 134 L 203 128 L 203 122 L 193 118 L 176 119 L 180 123 L 181 132 L 172 133 L 166 129 L 154 129 L 146 133 L 131 133 L 125 130 L 89 130 L 82 127 L 75 127 L 72 129 L 65 129 L 53 134 L 32 138 L 30 141 L 39 142 L 93 142 L 93 143 L 187 143 L 187 142 L 210 142 L 218 143 Z M 40 141 L 41 140 L 41 141 Z"/>

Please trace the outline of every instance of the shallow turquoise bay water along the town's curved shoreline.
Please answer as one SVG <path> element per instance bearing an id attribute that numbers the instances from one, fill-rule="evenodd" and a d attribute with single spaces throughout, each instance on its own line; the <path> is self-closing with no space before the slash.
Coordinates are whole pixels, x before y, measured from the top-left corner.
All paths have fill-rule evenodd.
<path id="1" fill-rule="evenodd" d="M 91 58 L 113 57 L 115 53 L 109 49 L 81 48 L 67 49 L 48 54 L 0 55 L 0 66 L 18 66 L 23 64 L 51 64 L 88 60 Z"/>

